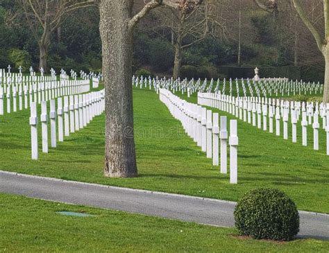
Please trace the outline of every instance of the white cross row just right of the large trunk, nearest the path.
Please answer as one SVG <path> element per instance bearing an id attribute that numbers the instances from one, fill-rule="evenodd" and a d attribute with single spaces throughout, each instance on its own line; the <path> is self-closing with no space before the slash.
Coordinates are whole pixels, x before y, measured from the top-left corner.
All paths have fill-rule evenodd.
<path id="1" fill-rule="evenodd" d="M 219 139 L 220 139 L 220 168 L 221 173 L 227 173 L 227 142 L 230 145 L 230 183 L 237 184 L 237 121 L 230 121 L 230 137 L 228 139 L 227 118 L 206 110 L 205 107 L 188 103 L 171 93 L 167 89 L 160 89 L 160 101 L 167 105 L 169 111 L 178 119 L 212 164 L 219 166 Z M 228 141 L 229 140 L 229 141 Z"/>

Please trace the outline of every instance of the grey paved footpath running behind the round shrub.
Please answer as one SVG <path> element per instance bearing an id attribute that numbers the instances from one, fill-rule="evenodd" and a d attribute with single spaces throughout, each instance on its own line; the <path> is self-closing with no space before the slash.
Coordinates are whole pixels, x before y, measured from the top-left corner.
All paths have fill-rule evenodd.
<path id="1" fill-rule="evenodd" d="M 235 202 L 0 171 L 0 192 L 89 207 L 233 227 Z M 298 236 L 329 240 L 329 215 L 300 211 Z"/>

